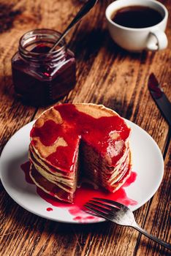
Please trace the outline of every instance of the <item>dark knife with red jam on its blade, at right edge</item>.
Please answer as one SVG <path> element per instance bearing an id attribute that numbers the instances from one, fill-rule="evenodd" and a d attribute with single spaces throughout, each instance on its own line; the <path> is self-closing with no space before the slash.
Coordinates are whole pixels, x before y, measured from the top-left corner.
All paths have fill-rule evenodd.
<path id="1" fill-rule="evenodd" d="M 151 96 L 156 102 L 159 110 L 161 110 L 161 113 L 171 127 L 171 103 L 169 99 L 167 99 L 164 91 L 161 89 L 161 86 L 159 85 L 159 82 L 153 73 L 151 73 L 148 78 L 148 89 L 151 92 Z"/>

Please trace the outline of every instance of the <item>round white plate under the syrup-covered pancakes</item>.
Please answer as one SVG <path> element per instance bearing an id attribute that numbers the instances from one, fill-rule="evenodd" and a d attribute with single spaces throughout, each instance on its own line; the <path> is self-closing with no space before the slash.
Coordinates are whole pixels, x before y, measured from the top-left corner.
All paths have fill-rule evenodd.
<path id="1" fill-rule="evenodd" d="M 146 203 L 159 188 L 164 173 L 164 162 L 159 146 L 153 138 L 131 121 L 126 120 L 126 123 L 132 128 L 130 141 L 132 170 L 137 173 L 137 178 L 134 183 L 125 187 L 124 190 L 127 197 L 137 201 L 135 206 L 129 206 L 134 211 Z M 83 217 L 80 217 L 79 214 L 73 217 L 73 214 L 71 214 L 75 211 L 73 206 L 66 208 L 52 206 L 37 195 L 34 184 L 26 182 L 20 165 L 28 160 L 29 133 L 33 124 L 34 121 L 19 129 L 2 151 L 0 175 L 4 189 L 16 203 L 40 217 L 70 223 L 102 222 L 103 219 L 97 217 L 91 219 L 85 213 L 83 213 Z M 47 208 L 53 211 L 47 211 Z"/>

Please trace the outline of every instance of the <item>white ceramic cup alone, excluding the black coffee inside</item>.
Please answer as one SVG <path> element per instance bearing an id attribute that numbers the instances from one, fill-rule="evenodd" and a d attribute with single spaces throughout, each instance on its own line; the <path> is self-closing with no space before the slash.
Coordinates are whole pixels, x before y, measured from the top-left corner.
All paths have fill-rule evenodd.
<path id="1" fill-rule="evenodd" d="M 118 25 L 111 19 L 113 13 L 128 6 L 145 6 L 161 13 L 163 19 L 155 26 L 148 28 L 132 29 Z M 162 50 L 167 48 L 167 36 L 164 30 L 167 26 L 168 12 L 159 1 L 155 0 L 117 0 L 110 4 L 106 9 L 107 25 L 113 40 L 121 48 L 138 52 L 142 50 Z"/>

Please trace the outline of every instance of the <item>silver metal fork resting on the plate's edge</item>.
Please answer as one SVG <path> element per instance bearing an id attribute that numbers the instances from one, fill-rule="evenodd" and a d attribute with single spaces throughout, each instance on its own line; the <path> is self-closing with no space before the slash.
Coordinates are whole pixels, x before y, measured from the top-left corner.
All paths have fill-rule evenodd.
<path id="1" fill-rule="evenodd" d="M 139 225 L 137 225 L 132 211 L 127 206 L 123 206 L 121 203 L 115 202 L 113 200 L 94 197 L 93 200 L 90 200 L 88 203 L 86 203 L 85 207 L 88 208 L 88 210 L 91 212 L 95 213 L 97 216 L 108 219 L 118 225 L 134 227 L 143 235 L 151 238 L 153 241 L 156 241 L 156 243 L 161 244 L 167 249 L 171 249 L 171 244 L 161 241 L 159 238 L 148 234 Z"/>

